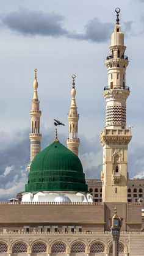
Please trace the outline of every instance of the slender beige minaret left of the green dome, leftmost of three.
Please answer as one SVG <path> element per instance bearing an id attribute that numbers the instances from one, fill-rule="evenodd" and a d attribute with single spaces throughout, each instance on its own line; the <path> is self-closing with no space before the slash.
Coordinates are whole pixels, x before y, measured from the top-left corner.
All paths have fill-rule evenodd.
<path id="1" fill-rule="evenodd" d="M 29 139 L 31 141 L 31 163 L 34 157 L 40 153 L 41 147 L 41 133 L 40 133 L 40 101 L 38 101 L 37 95 L 37 68 L 35 68 L 35 80 L 34 80 L 34 97 L 32 100 L 32 109 L 30 111 L 31 115 L 31 133 L 29 134 Z M 31 163 L 27 166 L 27 169 L 30 170 Z"/>

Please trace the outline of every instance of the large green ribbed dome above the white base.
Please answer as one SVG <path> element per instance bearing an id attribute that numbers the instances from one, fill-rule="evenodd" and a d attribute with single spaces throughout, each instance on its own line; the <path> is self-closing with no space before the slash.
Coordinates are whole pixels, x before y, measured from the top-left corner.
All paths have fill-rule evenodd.
<path id="1" fill-rule="evenodd" d="M 59 141 L 32 161 L 25 192 L 37 191 L 88 191 L 81 161 Z"/>

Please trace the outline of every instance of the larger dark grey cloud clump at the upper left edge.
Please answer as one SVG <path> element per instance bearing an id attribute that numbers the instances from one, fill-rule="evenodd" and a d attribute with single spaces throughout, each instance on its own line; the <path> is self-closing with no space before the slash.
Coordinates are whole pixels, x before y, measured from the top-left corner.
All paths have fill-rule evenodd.
<path id="1" fill-rule="evenodd" d="M 67 34 L 67 30 L 62 27 L 63 16 L 57 13 L 20 9 L 18 12 L 1 15 L 0 18 L 6 27 L 25 35 L 59 37 Z"/>

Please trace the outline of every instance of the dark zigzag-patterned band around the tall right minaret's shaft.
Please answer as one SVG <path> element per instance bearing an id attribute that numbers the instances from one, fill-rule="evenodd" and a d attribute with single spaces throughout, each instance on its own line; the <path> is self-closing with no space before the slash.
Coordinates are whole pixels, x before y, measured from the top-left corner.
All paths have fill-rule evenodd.
<path id="1" fill-rule="evenodd" d="M 107 125 L 126 126 L 126 106 L 107 106 L 106 126 Z"/>

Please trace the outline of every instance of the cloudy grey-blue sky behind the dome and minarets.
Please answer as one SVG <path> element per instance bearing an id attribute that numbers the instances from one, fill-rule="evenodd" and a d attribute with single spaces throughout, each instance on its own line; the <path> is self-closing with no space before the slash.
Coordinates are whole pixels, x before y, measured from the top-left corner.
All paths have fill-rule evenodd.
<path id="1" fill-rule="evenodd" d="M 129 66 L 126 85 L 127 126 L 132 125 L 129 144 L 129 177 L 144 178 L 143 104 L 143 0 L 0 0 L 0 200 L 24 191 L 29 163 L 31 100 L 34 69 L 38 69 L 41 148 L 54 139 L 53 119 L 61 120 L 59 140 L 66 145 L 67 114 L 71 102 L 71 75 L 76 75 L 79 119 L 79 158 L 86 178 L 100 178 L 102 146 L 99 133 L 105 123 L 110 38 L 115 8 Z"/>

